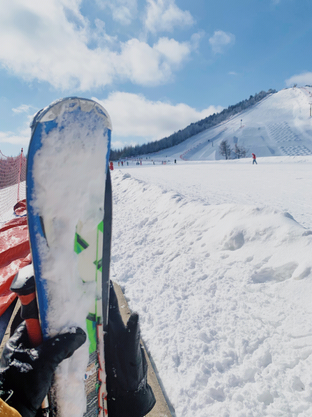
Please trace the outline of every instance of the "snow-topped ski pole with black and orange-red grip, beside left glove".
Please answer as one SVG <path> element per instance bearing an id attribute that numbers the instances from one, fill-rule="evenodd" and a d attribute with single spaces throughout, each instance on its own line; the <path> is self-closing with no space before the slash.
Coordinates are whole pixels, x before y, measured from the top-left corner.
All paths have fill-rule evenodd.
<path id="1" fill-rule="evenodd" d="M 36 299 L 36 284 L 32 264 L 20 269 L 15 275 L 10 290 L 17 294 L 22 304 L 20 317 L 25 320 L 28 338 L 32 347 L 42 343 L 42 333 Z M 41 405 L 42 416 L 49 416 L 49 401 L 47 396 Z"/>

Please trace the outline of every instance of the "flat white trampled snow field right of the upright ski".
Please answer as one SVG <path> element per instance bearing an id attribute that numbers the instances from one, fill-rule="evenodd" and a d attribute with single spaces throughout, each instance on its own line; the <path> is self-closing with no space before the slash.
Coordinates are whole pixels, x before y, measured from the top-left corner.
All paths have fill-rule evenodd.
<path id="1" fill-rule="evenodd" d="M 311 417 L 312 157 L 112 171 L 111 276 L 177 417 Z"/>

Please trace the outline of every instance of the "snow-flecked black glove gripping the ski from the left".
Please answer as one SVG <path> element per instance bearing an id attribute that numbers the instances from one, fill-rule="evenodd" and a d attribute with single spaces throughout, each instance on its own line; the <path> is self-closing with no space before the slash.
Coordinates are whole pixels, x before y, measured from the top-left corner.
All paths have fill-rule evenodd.
<path id="1" fill-rule="evenodd" d="M 79 327 L 31 348 L 25 322 L 6 342 L 0 361 L 0 397 L 22 417 L 34 417 L 51 385 L 52 374 L 63 359 L 85 343 Z"/>

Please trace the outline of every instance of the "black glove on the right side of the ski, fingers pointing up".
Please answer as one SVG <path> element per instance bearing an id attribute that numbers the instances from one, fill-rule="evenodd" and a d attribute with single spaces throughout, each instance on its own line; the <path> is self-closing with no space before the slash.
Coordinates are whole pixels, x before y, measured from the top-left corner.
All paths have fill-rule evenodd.
<path id="1" fill-rule="evenodd" d="M 108 415 L 145 416 L 154 406 L 155 397 L 146 381 L 147 362 L 140 346 L 139 316 L 132 313 L 125 327 L 112 282 L 104 341 Z"/>

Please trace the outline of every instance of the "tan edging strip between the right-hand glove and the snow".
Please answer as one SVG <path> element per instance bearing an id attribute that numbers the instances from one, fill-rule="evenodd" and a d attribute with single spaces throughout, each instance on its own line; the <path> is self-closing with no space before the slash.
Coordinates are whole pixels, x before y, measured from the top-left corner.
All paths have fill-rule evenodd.
<path id="1" fill-rule="evenodd" d="M 113 282 L 113 286 L 114 286 L 115 293 L 116 293 L 116 296 L 117 296 L 119 310 L 120 310 L 122 320 L 126 324 L 128 319 L 129 319 L 129 316 L 131 314 L 131 311 L 129 309 L 129 306 L 127 304 L 127 301 L 125 299 L 125 296 L 124 296 L 120 286 L 116 282 Z M 153 409 L 148 414 L 146 414 L 146 417 L 172 417 L 172 414 L 170 412 L 168 404 L 165 400 L 165 396 L 162 392 L 162 389 L 160 388 L 160 384 L 159 384 L 157 376 L 155 374 L 155 370 L 152 367 L 152 364 L 150 362 L 150 358 L 148 357 L 148 354 L 145 350 L 145 346 L 144 346 L 142 340 L 141 340 L 141 344 L 143 346 L 145 357 L 146 357 L 146 360 L 147 360 L 147 365 L 148 365 L 147 383 L 152 387 L 152 390 L 153 390 L 155 398 L 156 398 L 155 406 L 153 407 Z"/>

